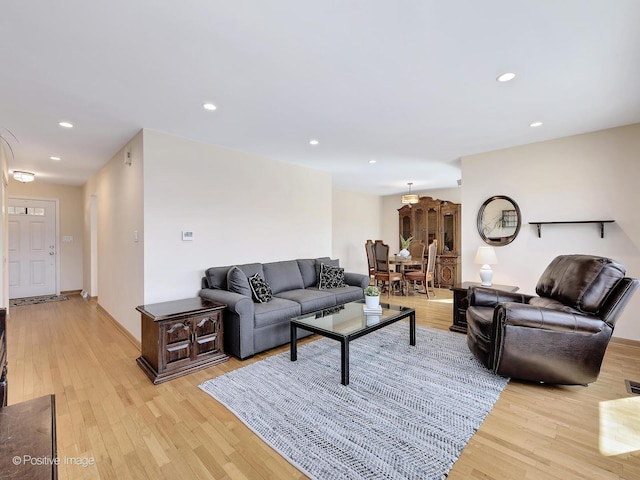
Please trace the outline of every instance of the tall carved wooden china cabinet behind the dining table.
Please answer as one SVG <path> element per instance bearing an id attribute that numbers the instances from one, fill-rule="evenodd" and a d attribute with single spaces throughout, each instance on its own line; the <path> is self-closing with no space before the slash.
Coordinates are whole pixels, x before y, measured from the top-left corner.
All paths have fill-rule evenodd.
<path id="1" fill-rule="evenodd" d="M 398 209 L 400 234 L 429 246 L 438 241 L 435 283 L 452 287 L 460 283 L 460 204 L 431 197 Z M 426 255 L 426 252 L 425 252 Z"/>

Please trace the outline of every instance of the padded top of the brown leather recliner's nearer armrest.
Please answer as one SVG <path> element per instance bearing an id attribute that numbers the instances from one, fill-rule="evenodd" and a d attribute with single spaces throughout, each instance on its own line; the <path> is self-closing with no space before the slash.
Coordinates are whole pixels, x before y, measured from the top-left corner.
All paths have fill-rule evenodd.
<path id="1" fill-rule="evenodd" d="M 494 323 L 505 326 L 530 327 L 538 330 L 572 333 L 598 333 L 605 322 L 592 315 L 537 307 L 521 303 L 502 303 L 496 308 Z"/>

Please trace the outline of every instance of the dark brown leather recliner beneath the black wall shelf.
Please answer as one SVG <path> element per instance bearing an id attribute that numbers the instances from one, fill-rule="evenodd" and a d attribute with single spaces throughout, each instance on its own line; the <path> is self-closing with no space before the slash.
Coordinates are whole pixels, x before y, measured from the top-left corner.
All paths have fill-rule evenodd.
<path id="1" fill-rule="evenodd" d="M 640 284 L 625 275 L 608 258 L 561 255 L 542 274 L 537 296 L 471 287 L 469 349 L 504 377 L 594 382 L 615 322 Z"/>

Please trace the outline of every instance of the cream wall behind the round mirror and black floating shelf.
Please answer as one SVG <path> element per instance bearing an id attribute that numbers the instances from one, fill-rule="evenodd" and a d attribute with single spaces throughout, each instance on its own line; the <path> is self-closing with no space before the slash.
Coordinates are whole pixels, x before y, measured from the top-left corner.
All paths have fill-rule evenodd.
<path id="1" fill-rule="evenodd" d="M 496 247 L 494 283 L 534 293 L 544 268 L 557 255 L 584 253 L 621 262 L 640 276 L 640 124 L 462 159 L 462 280 L 478 281 L 473 263 L 484 245 L 476 229 L 482 203 L 506 195 L 520 206 L 523 225 L 509 245 Z M 538 238 L 531 221 L 604 220 L 596 225 L 549 225 Z M 640 294 L 616 325 L 615 335 L 640 340 Z"/>

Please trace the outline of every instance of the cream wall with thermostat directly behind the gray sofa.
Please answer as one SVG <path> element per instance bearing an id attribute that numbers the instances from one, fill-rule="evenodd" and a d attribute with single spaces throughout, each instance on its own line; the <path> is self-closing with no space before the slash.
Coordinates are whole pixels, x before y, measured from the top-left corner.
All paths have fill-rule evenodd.
<path id="1" fill-rule="evenodd" d="M 208 267 L 331 255 L 331 205 L 328 173 L 144 130 L 144 302 L 196 296 Z"/>

